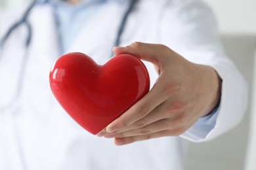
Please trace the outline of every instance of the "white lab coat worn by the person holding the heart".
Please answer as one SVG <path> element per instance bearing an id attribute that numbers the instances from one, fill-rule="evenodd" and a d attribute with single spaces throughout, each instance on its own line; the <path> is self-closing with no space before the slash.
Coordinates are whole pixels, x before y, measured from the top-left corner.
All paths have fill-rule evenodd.
<path id="1" fill-rule="evenodd" d="M 125 7 L 109 3 L 87 22 L 68 52 L 83 52 L 99 64 L 108 60 Z M 0 19 L 0 37 L 22 16 L 23 9 Z M 104 16 L 102 18 L 102 16 Z M 60 55 L 58 33 L 49 5 L 35 7 L 29 21 L 32 43 L 26 50 L 25 26 L 9 37 L 0 57 L 0 102 L 9 101 L 16 89 L 20 63 L 27 52 L 21 93 L 11 106 L 0 110 L 0 169 L 113 169 L 181 170 L 185 140 L 162 137 L 126 146 L 98 138 L 85 131 L 64 112 L 49 87 L 49 71 Z M 202 139 L 213 139 L 238 124 L 247 106 L 247 86 L 226 58 L 217 36 L 215 19 L 200 1 L 142 0 L 129 16 L 121 45 L 142 41 L 161 43 L 196 63 L 211 65 L 223 78 L 216 126 Z M 151 85 L 157 78 L 146 63 Z M 13 96 L 13 95 L 12 95 Z"/>

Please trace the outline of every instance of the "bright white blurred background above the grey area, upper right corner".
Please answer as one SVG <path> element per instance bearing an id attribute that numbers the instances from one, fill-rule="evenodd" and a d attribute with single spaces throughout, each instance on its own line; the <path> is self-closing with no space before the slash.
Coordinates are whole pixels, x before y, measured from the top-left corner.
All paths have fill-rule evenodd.
<path id="1" fill-rule="evenodd" d="M 204 0 L 215 11 L 221 33 L 256 35 L 255 0 Z"/>

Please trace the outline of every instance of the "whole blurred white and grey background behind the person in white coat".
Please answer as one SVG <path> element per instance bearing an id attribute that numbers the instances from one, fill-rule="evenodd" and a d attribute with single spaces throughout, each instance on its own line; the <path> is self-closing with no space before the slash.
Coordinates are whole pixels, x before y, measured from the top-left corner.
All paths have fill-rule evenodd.
<path id="1" fill-rule="evenodd" d="M 29 1 L 0 0 L 0 12 Z M 256 124 L 256 91 L 252 87 L 256 85 L 256 69 L 253 69 L 256 65 L 256 1 L 204 1 L 217 16 L 219 32 L 228 56 L 247 79 L 251 101 L 238 127 L 208 143 L 189 143 L 186 170 L 255 170 L 256 126 L 253 124 Z"/>

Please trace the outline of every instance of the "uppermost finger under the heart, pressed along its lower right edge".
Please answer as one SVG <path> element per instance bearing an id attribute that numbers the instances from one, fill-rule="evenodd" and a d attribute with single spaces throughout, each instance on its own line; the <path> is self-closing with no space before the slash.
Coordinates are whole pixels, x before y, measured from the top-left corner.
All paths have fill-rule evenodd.
<path id="1" fill-rule="evenodd" d="M 126 112 L 121 114 L 119 118 L 114 120 L 106 127 L 106 132 L 112 133 L 114 131 L 121 132 L 131 124 L 144 118 L 153 109 L 158 107 L 163 101 L 167 99 L 167 95 L 160 95 L 161 88 L 157 84 L 148 92 L 142 99 L 140 99 L 135 105 L 133 105 Z"/>

